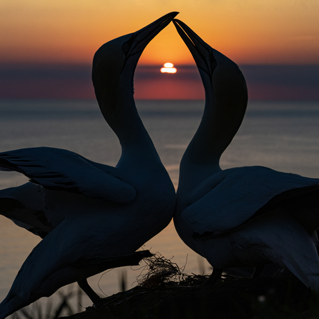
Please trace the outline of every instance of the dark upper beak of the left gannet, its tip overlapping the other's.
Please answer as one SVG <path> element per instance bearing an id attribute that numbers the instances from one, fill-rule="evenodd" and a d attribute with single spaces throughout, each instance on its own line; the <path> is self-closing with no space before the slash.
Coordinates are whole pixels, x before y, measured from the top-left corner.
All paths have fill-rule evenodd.
<path id="1" fill-rule="evenodd" d="M 141 55 L 143 50 L 146 48 L 150 40 L 152 40 L 160 31 L 162 31 L 170 22 L 178 15 L 179 12 L 170 12 L 164 15 L 160 19 L 157 19 L 148 26 L 141 28 L 141 30 L 132 33 L 132 37 L 129 40 L 130 50 L 127 53 L 127 58 L 132 55 Z"/>

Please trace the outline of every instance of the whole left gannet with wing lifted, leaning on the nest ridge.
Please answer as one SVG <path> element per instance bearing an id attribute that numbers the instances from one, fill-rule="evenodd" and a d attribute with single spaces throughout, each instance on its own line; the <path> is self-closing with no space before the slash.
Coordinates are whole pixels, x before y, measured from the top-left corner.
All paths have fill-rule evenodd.
<path id="1" fill-rule="evenodd" d="M 96 300 L 87 277 L 137 264 L 149 252 L 135 251 L 169 225 L 175 189 L 137 113 L 133 76 L 148 42 L 177 14 L 107 42 L 94 55 L 98 105 L 122 148 L 116 167 L 58 148 L 0 153 L 1 170 L 30 179 L 0 191 L 1 214 L 43 237 L 1 302 L 1 319 L 72 282 Z"/>

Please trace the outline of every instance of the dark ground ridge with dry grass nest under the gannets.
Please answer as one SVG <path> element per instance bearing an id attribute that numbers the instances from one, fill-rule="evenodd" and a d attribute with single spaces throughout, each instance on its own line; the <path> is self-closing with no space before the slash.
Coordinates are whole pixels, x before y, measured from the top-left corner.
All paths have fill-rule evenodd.
<path id="1" fill-rule="evenodd" d="M 226 276 L 214 286 L 200 286 L 208 276 L 183 274 L 158 255 L 147 263 L 148 273 L 139 278 L 139 286 L 63 318 L 319 318 L 318 294 L 295 277 Z"/>

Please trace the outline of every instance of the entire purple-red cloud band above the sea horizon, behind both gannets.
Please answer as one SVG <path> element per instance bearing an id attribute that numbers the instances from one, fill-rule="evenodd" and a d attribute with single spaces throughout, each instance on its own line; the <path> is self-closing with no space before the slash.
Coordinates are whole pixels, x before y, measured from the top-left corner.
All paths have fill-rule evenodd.
<path id="1" fill-rule="evenodd" d="M 137 99 L 203 99 L 195 65 L 139 65 Z M 250 99 L 319 100 L 319 65 L 241 65 Z M 0 64 L 0 98 L 95 98 L 88 64 Z"/>

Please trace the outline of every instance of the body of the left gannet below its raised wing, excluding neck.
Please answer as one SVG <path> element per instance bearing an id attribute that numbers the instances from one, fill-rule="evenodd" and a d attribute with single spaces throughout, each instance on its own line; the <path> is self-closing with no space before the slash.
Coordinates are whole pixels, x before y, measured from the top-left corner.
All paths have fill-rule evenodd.
<path id="1" fill-rule="evenodd" d="M 126 181 L 137 191 L 130 204 L 52 191 L 31 182 L 0 192 L 1 197 L 6 196 L 6 207 L 15 207 L 8 216 L 14 218 L 13 214 L 24 214 L 26 225 L 31 224 L 33 232 L 42 236 L 45 230 L 49 232 L 21 267 L 16 279 L 21 292 L 28 293 L 29 289 L 23 288 L 24 285 L 34 288 L 38 282 L 37 293 L 49 296 L 60 286 L 95 275 L 105 270 L 103 263 L 107 264 L 107 257 L 135 252 L 169 224 L 174 198 L 160 162 L 152 168 L 156 174 L 146 170 L 146 175 L 144 169 L 139 170 L 137 166 L 132 175 L 126 175 Z M 118 178 L 121 178 L 121 173 Z M 154 180 L 157 185 L 153 185 Z M 28 222 L 28 215 L 44 227 Z M 32 272 L 29 271 L 31 268 Z M 23 286 L 20 277 L 23 277 Z M 63 279 L 66 282 L 62 282 Z M 44 291 L 40 286 L 44 286 Z"/>

